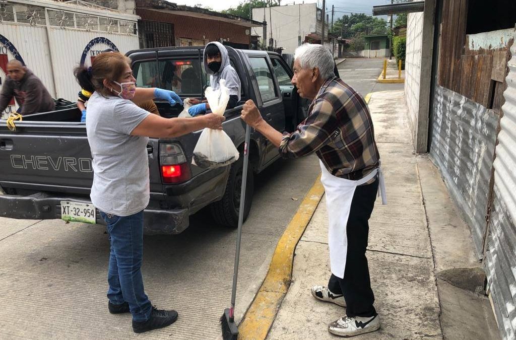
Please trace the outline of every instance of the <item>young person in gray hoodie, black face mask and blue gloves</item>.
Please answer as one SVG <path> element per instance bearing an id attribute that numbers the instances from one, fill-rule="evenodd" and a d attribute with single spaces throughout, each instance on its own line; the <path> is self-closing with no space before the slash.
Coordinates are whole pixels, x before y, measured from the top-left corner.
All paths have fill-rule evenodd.
<path id="1" fill-rule="evenodd" d="M 240 101 L 240 78 L 229 62 L 228 50 L 220 42 L 208 42 L 204 47 L 204 69 L 209 74 L 209 84 L 216 90 L 219 80 L 225 79 L 225 86 L 229 88 L 229 102 L 227 108 L 235 107 Z M 190 99 L 192 104 L 188 109 L 191 116 L 206 113 L 209 104 L 206 100 Z"/>

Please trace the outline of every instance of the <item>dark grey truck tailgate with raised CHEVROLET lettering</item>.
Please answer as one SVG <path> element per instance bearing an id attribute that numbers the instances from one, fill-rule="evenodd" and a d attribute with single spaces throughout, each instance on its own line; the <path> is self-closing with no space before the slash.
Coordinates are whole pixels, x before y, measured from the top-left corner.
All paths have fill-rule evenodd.
<path id="1" fill-rule="evenodd" d="M 79 123 L 20 122 L 13 132 L 2 124 L 0 164 L 4 188 L 89 195 L 93 181 L 86 127 Z M 152 182 L 161 187 L 159 173 L 151 174 Z"/>

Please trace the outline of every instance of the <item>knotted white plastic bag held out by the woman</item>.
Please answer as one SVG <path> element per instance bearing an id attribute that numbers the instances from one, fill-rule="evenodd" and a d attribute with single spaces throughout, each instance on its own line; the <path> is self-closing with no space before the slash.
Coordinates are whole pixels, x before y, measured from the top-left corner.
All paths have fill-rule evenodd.
<path id="1" fill-rule="evenodd" d="M 229 89 L 225 87 L 224 79 L 220 79 L 219 84 L 217 90 L 208 87 L 205 95 L 212 112 L 223 116 L 229 101 Z M 192 164 L 200 168 L 213 169 L 231 164 L 238 160 L 238 157 L 235 144 L 224 131 L 205 128 L 193 149 Z"/>

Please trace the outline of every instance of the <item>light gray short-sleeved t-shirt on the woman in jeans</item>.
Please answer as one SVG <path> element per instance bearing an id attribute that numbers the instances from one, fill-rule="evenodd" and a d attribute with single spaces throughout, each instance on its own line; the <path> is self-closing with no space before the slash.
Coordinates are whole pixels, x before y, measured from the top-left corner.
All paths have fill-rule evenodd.
<path id="1" fill-rule="evenodd" d="M 129 216 L 149 204 L 148 137 L 131 136 L 150 115 L 131 101 L 94 92 L 86 132 L 93 156 L 91 202 L 100 211 Z"/>

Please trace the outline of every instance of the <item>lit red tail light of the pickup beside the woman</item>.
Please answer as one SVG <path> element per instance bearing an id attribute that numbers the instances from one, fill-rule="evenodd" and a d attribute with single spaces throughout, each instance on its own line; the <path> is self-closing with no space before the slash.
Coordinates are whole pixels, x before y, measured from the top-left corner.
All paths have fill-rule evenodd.
<path id="1" fill-rule="evenodd" d="M 191 178 L 190 165 L 179 144 L 159 144 L 159 164 L 163 183 L 183 183 Z"/>

